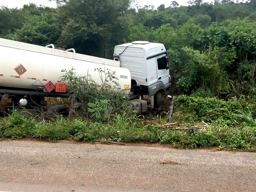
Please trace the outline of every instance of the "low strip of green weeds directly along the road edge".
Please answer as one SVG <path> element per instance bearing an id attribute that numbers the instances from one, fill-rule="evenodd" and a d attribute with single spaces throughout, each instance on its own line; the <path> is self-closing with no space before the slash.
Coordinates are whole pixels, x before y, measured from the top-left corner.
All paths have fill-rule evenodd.
<path id="1" fill-rule="evenodd" d="M 201 130 L 166 130 L 159 129 L 159 123 L 162 125 L 164 123 L 162 121 L 168 119 L 164 116 L 156 118 L 157 122 L 150 121 L 148 124 L 126 114 L 115 116 L 114 121 L 109 124 L 69 120 L 62 116 L 57 116 L 51 121 L 36 122 L 22 116 L 19 111 L 14 111 L 12 115 L 0 119 L 0 137 L 13 139 L 32 137 L 50 142 L 63 139 L 86 142 L 160 142 L 182 148 L 216 146 L 219 149 L 256 150 L 255 126 L 234 127 L 225 123 L 220 125 L 219 121 L 214 121 Z"/>

